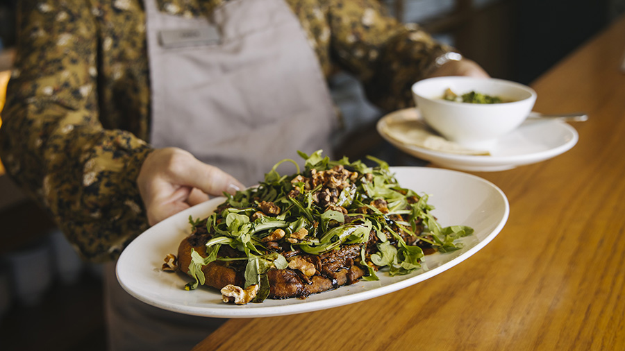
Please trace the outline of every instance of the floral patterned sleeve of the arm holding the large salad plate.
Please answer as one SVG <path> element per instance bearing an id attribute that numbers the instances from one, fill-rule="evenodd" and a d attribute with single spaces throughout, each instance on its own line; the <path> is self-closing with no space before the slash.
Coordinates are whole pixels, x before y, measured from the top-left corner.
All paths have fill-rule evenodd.
<path id="1" fill-rule="evenodd" d="M 147 228 L 135 180 L 151 148 L 99 122 L 97 27 L 88 1 L 20 2 L 0 157 L 92 262 Z"/>

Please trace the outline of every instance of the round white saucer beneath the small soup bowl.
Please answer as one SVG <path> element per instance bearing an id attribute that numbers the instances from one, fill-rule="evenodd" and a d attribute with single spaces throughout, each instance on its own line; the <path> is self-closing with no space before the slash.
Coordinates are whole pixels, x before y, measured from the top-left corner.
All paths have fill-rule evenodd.
<path id="1" fill-rule="evenodd" d="M 556 119 L 528 119 L 519 128 L 502 137 L 490 150 L 490 155 L 467 155 L 433 150 L 402 142 L 387 132 L 390 123 L 416 119 L 414 108 L 387 114 L 378 121 L 377 129 L 387 142 L 410 155 L 439 166 L 463 171 L 503 171 L 524 164 L 549 160 L 577 144 L 575 128 Z"/>

